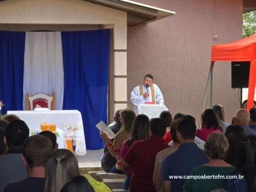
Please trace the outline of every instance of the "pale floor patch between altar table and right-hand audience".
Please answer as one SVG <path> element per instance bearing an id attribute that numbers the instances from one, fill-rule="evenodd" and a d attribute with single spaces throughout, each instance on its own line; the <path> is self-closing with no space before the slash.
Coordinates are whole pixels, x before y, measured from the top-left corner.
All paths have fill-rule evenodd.
<path id="1" fill-rule="evenodd" d="M 99 150 L 86 150 L 85 156 L 76 156 L 79 168 L 92 168 L 100 167 L 100 158 L 103 154 L 103 149 Z"/>

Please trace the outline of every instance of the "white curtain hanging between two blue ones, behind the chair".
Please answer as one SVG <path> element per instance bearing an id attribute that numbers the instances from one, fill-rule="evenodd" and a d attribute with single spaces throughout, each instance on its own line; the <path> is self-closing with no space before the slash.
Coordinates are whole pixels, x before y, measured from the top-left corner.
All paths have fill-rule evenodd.
<path id="1" fill-rule="evenodd" d="M 60 32 L 26 32 L 23 108 L 25 94 L 55 92 L 56 109 L 63 105 L 63 58 Z"/>

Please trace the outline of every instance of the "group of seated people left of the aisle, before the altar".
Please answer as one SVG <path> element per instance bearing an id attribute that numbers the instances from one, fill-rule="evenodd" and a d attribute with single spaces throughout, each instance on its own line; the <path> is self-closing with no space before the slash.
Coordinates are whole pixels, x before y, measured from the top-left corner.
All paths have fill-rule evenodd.
<path id="1" fill-rule="evenodd" d="M 0 173 L 1 192 L 94 191 L 80 175 L 76 156 L 58 149 L 53 132 L 29 137 L 28 126 L 15 115 L 0 120 Z"/>

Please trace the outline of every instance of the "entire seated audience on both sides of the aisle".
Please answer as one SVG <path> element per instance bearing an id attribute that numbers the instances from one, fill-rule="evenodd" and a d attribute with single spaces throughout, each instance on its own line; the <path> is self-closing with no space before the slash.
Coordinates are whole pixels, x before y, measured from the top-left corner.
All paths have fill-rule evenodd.
<path id="1" fill-rule="evenodd" d="M 191 115 L 163 111 L 149 119 L 118 110 L 104 140 L 105 172 L 125 174 L 125 191 L 256 191 L 256 108 L 225 122 L 221 105 L 205 109 L 196 129 Z M 76 156 L 58 149 L 50 131 L 29 137 L 15 115 L 0 120 L 0 192 L 94 191 Z"/>

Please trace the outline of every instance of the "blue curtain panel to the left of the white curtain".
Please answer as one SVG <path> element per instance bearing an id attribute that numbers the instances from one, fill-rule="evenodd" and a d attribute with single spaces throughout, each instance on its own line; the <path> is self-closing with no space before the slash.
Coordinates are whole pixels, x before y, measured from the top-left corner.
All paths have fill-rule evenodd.
<path id="1" fill-rule="evenodd" d="M 0 31 L 0 100 L 8 110 L 22 110 L 25 32 Z"/>

